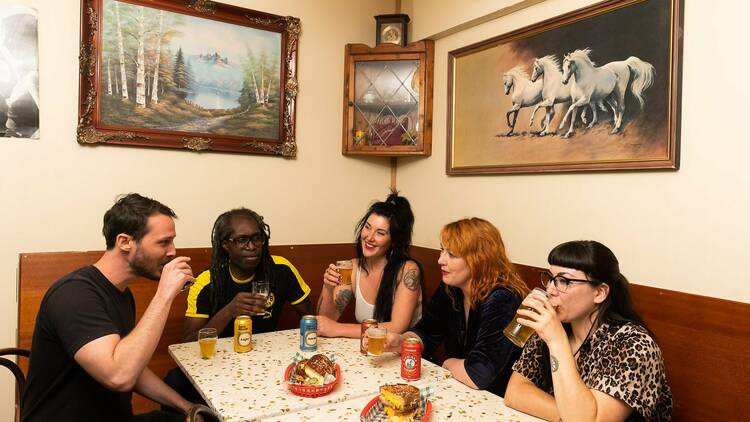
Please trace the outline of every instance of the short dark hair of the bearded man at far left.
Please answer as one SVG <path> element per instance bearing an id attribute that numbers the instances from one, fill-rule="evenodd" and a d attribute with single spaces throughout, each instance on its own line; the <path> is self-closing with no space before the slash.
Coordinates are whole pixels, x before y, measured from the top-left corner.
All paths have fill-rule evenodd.
<path id="1" fill-rule="evenodd" d="M 163 214 L 172 218 L 177 215 L 171 208 L 137 193 L 118 197 L 112 208 L 104 213 L 102 234 L 107 242 L 107 250 L 115 247 L 118 234 L 127 234 L 139 241 L 148 233 L 148 218 L 154 214 Z"/>

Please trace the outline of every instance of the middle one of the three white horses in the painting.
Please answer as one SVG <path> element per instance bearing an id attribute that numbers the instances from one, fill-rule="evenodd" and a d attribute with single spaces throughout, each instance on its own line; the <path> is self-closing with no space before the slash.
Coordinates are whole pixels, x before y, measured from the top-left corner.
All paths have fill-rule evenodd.
<path id="1" fill-rule="evenodd" d="M 562 82 L 562 71 L 560 71 L 560 64 L 557 58 L 553 55 L 547 55 L 541 58 L 534 59 L 533 72 L 531 73 L 531 81 L 536 82 L 540 76 L 543 76 L 542 85 L 542 101 L 537 104 L 534 111 L 531 113 L 531 121 L 529 126 L 533 124 L 534 115 L 539 107 L 545 107 L 547 114 L 542 122 L 542 131 L 539 133 L 540 136 L 545 136 L 550 131 L 550 122 L 555 117 L 555 104 L 565 103 L 570 101 L 570 86 Z M 600 103 L 600 107 L 604 110 L 604 106 Z M 594 107 L 591 107 L 594 109 Z M 594 110 L 594 114 L 596 110 Z M 585 119 L 585 118 L 584 118 Z"/>

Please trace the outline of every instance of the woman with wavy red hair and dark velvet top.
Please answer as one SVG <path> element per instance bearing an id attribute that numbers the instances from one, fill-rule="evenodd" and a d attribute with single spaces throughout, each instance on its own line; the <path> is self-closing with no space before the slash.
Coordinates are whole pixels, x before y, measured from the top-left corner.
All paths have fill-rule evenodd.
<path id="1" fill-rule="evenodd" d="M 502 329 L 529 289 L 505 253 L 500 232 L 481 218 L 455 221 L 440 232 L 442 282 L 422 319 L 401 336 L 389 336 L 390 350 L 415 337 L 427 359 L 441 344 L 443 367 L 475 389 L 505 394 L 520 349 Z"/>

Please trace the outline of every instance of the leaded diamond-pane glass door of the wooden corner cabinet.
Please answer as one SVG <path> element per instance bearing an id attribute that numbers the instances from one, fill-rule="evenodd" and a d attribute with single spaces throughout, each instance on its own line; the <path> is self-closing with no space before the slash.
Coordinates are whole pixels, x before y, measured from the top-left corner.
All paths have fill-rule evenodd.
<path id="1" fill-rule="evenodd" d="M 354 65 L 352 144 L 418 144 L 419 60 L 358 61 Z"/>

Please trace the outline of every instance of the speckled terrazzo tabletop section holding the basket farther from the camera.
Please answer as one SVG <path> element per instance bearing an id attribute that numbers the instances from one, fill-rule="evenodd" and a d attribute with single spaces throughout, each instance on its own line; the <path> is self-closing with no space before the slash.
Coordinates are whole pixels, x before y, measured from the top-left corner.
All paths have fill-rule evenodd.
<path id="1" fill-rule="evenodd" d="M 286 367 L 299 352 L 299 330 L 256 334 L 253 342 L 252 351 L 235 353 L 232 338 L 219 339 L 212 359 L 201 359 L 197 342 L 171 345 L 169 354 L 206 403 L 226 422 L 255 421 L 357 398 L 369 401 L 380 385 L 405 382 L 398 355 L 362 356 L 357 339 L 321 337 L 317 353 L 335 353 L 341 379 L 328 395 L 299 397 L 289 391 L 283 380 Z M 422 360 L 422 377 L 413 384 L 434 386 L 447 378 L 450 378 L 448 371 Z M 289 420 L 296 420 L 295 417 Z"/>

